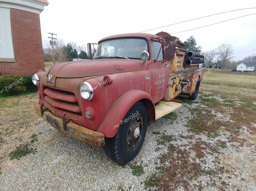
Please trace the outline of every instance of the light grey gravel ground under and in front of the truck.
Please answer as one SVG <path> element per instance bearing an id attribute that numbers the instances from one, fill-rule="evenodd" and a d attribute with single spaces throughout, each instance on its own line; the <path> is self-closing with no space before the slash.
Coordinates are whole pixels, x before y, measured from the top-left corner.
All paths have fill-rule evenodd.
<path id="1" fill-rule="evenodd" d="M 110 161 L 102 148 L 82 143 L 43 121 L 35 126 L 38 135 L 38 141 L 35 142 L 37 152 L 20 160 L 12 160 L 9 170 L 0 176 L 0 190 L 145 190 L 144 181 L 156 173 L 158 157 L 167 151 L 167 146 L 157 145 L 159 135 L 154 135 L 153 132 L 158 131 L 177 137 L 172 144 L 179 145 L 182 149 L 188 149 L 198 139 L 210 145 L 217 140 L 227 142 L 229 135 L 224 131 L 220 136 L 211 139 L 204 135 L 195 135 L 194 141 L 180 138 L 181 135 L 191 135 L 188 133 L 186 123 L 192 117 L 189 107 L 196 106 L 196 104 L 184 104 L 175 111 L 178 117 L 174 121 L 166 118 L 153 121 L 148 127 L 140 153 L 123 167 Z M 227 117 L 225 120 L 228 120 Z M 244 130 L 242 136 L 250 135 Z M 191 180 L 189 189 L 194 190 L 193 187 L 200 184 L 202 190 L 218 190 L 221 185 L 223 186 L 221 182 L 224 181 L 227 190 L 256 190 L 256 182 L 254 182 L 256 177 L 253 179 L 253 176 L 256 176 L 254 174 L 256 169 L 252 171 L 256 159 L 255 151 L 253 152 L 252 149 L 255 142 L 249 143 L 244 147 L 239 145 L 234 147 L 227 142 L 227 148 L 223 148 L 221 154 L 211 155 L 207 154 L 207 150 L 204 151 L 206 154 L 203 159 L 207 160 L 207 163 L 198 160 L 202 168 L 215 169 L 216 166 L 221 166 L 229 171 Z M 159 151 L 155 151 L 156 148 L 160 148 Z M 191 151 L 189 159 L 194 158 L 195 155 L 196 153 Z M 216 157 L 220 159 L 219 163 L 216 163 Z M 140 164 L 141 161 L 145 173 L 141 176 L 132 175 L 129 165 L 136 162 Z M 183 187 L 180 185 L 178 190 L 183 190 Z"/>

